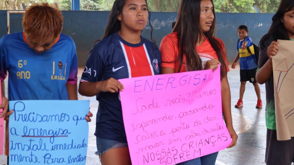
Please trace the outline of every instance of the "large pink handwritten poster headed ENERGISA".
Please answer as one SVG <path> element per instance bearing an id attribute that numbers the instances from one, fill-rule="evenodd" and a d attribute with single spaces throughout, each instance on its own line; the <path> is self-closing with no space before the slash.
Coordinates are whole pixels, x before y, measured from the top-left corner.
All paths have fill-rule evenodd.
<path id="1" fill-rule="evenodd" d="M 119 81 L 133 165 L 176 164 L 231 143 L 222 117 L 220 67 Z"/>

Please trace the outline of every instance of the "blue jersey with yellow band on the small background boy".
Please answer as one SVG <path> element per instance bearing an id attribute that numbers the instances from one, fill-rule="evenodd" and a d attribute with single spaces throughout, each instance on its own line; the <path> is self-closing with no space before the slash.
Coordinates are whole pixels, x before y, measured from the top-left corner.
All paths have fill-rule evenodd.
<path id="1" fill-rule="evenodd" d="M 240 40 L 239 44 L 237 43 L 237 51 L 239 52 L 239 57 L 240 57 L 240 69 L 241 70 L 250 70 L 257 68 L 256 63 L 254 62 L 252 56 L 249 54 L 247 49 L 242 50 L 242 44 L 244 41 L 247 41 L 247 48 L 249 48 L 250 52 L 254 54 L 254 48 L 253 48 L 253 42 L 250 37 L 246 37 L 244 40 Z"/>

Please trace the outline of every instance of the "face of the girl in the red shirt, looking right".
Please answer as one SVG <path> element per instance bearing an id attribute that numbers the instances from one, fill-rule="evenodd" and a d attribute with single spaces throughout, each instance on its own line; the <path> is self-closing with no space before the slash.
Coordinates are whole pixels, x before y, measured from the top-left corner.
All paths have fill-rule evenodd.
<path id="1" fill-rule="evenodd" d="M 214 19 L 213 5 L 210 0 L 202 0 L 200 3 L 200 25 L 203 32 L 210 30 Z"/>

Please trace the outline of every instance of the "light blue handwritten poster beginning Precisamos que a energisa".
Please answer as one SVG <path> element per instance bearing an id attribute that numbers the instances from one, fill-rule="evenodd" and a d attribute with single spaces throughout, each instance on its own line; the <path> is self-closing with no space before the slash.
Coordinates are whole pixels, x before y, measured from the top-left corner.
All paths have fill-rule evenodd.
<path id="1" fill-rule="evenodd" d="M 9 164 L 85 165 L 89 100 L 10 101 Z"/>

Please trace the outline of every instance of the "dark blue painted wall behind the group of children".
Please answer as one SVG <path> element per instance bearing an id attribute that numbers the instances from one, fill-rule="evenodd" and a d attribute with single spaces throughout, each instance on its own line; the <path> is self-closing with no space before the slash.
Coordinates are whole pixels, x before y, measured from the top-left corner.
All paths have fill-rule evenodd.
<path id="1" fill-rule="evenodd" d="M 0 37 L 7 34 L 6 11 L 0 10 Z M 64 16 L 65 33 L 76 43 L 78 53 L 78 64 L 83 66 L 88 58 L 94 41 L 101 39 L 107 23 L 108 11 L 62 11 Z M 246 25 L 253 43 L 258 45 L 260 38 L 268 32 L 274 14 L 262 13 L 216 13 L 217 32 L 216 36 L 224 41 L 228 60 L 231 62 L 236 56 L 237 28 Z M 10 32 L 15 33 L 22 30 L 22 14 L 13 14 L 10 18 Z M 176 20 L 175 12 L 152 12 L 151 23 L 153 25 L 153 37 L 159 47 L 162 38 L 171 32 L 171 24 Z M 151 28 L 147 25 L 142 36 L 150 39 Z"/>

